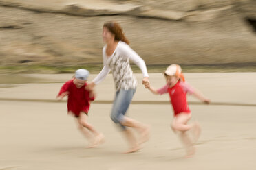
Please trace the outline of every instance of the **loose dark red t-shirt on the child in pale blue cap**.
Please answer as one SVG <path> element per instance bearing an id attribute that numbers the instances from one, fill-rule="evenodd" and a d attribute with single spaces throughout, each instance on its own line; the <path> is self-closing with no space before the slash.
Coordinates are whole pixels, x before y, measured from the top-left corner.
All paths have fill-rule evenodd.
<path id="1" fill-rule="evenodd" d="M 84 86 L 77 88 L 74 84 L 74 79 L 69 80 L 63 84 L 58 96 L 64 92 L 69 92 L 67 99 L 67 111 L 72 112 L 76 117 L 80 112 L 88 113 L 90 101 L 94 101 L 94 97 L 89 97 L 89 91 L 85 90 Z"/>

